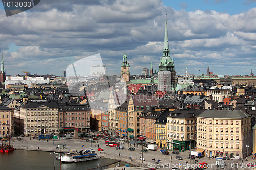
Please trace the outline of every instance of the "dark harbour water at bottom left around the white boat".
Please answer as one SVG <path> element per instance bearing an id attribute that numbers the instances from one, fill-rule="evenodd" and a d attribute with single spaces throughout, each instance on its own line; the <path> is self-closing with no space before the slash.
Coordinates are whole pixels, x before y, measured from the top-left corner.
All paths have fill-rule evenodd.
<path id="1" fill-rule="evenodd" d="M 0 154 L 0 169 L 54 169 L 53 165 L 53 154 L 51 152 L 45 151 L 25 151 L 25 150 L 15 150 L 14 152 L 8 154 Z M 62 163 L 61 169 L 90 169 L 110 163 L 114 163 L 116 160 L 100 158 L 98 160 L 77 162 L 77 163 Z M 119 162 L 120 166 L 125 166 L 125 162 Z M 116 164 L 101 168 L 116 167 Z M 131 165 L 130 165 L 131 166 Z M 55 169 L 60 169 L 60 162 L 55 160 Z M 100 169 L 100 168 L 99 168 Z"/>

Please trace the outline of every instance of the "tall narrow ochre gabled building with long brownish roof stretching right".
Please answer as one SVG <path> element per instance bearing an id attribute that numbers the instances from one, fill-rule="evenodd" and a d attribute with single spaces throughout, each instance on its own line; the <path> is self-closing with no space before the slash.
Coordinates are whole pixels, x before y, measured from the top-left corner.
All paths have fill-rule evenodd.
<path id="1" fill-rule="evenodd" d="M 140 114 L 158 106 L 156 95 L 131 95 L 128 101 L 128 136 L 140 135 Z M 131 136 L 130 136 L 131 135 Z"/>

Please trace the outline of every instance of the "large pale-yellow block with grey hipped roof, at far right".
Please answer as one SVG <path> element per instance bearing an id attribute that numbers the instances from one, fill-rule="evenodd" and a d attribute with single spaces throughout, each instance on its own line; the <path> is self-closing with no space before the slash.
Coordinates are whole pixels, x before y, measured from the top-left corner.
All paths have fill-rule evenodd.
<path id="1" fill-rule="evenodd" d="M 197 148 L 205 156 L 251 155 L 251 116 L 241 110 L 206 110 L 197 116 Z"/>

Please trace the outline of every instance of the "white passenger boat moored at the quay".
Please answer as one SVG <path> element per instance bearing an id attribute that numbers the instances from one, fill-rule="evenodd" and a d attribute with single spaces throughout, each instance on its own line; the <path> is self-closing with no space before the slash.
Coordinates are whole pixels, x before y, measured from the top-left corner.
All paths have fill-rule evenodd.
<path id="1" fill-rule="evenodd" d="M 61 155 L 62 162 L 83 162 L 94 159 L 99 159 L 100 156 L 93 150 L 81 150 L 75 152 L 67 152 Z M 59 156 L 56 156 L 57 160 L 60 160 Z"/>

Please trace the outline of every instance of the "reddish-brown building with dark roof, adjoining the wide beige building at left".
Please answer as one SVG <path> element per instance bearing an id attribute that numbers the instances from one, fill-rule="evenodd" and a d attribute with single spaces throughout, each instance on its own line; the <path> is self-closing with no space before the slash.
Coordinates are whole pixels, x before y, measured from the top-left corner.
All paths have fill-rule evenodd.
<path id="1" fill-rule="evenodd" d="M 60 103 L 59 108 L 59 131 L 79 132 L 90 131 L 90 107 L 79 103 Z"/>

